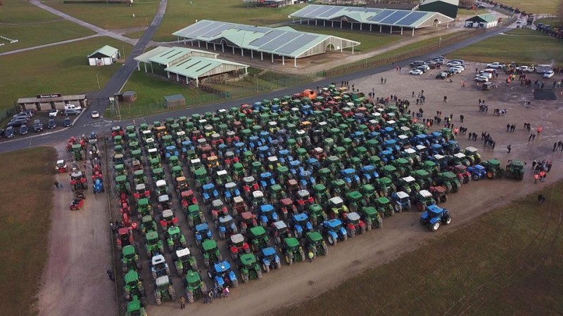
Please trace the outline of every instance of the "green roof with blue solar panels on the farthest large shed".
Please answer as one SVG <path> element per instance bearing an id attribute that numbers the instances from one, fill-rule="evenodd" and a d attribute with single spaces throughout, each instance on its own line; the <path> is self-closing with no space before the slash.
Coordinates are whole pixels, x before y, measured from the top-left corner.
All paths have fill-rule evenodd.
<path id="1" fill-rule="evenodd" d="M 310 4 L 301 10 L 291 13 L 290 18 L 305 18 L 372 24 L 391 25 L 398 27 L 426 27 L 434 20 L 439 23 L 453 22 L 453 18 L 437 12 L 394 10 L 383 8 L 361 8 L 356 6 L 323 6 Z"/>

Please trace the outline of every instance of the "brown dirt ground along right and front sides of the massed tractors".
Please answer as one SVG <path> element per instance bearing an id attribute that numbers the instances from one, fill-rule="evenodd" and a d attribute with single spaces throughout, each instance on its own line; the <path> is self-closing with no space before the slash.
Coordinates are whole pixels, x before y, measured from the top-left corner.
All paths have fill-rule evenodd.
<path id="1" fill-rule="evenodd" d="M 533 183 L 531 173 L 524 181 L 515 180 L 481 180 L 464 185 L 462 190 L 450 196 L 445 207 L 452 211 L 455 223 L 438 234 L 455 230 L 464 223 L 469 223 L 486 211 L 509 202 L 515 197 L 521 197 L 539 190 L 541 187 L 562 178 L 563 171 L 559 169 L 562 162 L 562 152 L 552 152 L 555 141 L 563 140 L 563 125 L 557 122 L 563 119 L 562 103 L 559 100 L 533 100 L 531 88 L 521 86 L 506 86 L 504 76 L 499 76 L 499 88 L 492 91 L 481 91 L 472 81 L 474 67 L 468 66 L 463 74 L 453 77 L 453 83 L 434 79 L 436 71 L 427 72 L 423 76 L 407 74 L 406 67 L 402 72 L 395 70 L 384 74 L 377 74 L 361 80 L 350 82 L 350 86 L 360 88 L 360 91 L 374 91 L 378 96 L 397 94 L 399 98 L 411 101 L 410 110 L 418 110 L 412 91 L 417 93 L 424 90 L 426 103 L 422 106 L 425 116 L 434 117 L 437 110 L 443 115 L 453 113 L 455 126 L 464 126 L 468 132 L 478 134 L 477 142 L 467 140 L 467 136 L 459 136 L 460 145 L 479 148 L 484 159 L 498 158 L 505 164 L 508 159 L 524 159 L 531 164 L 533 159 L 550 159 L 554 168 L 549 173 L 545 183 Z M 380 84 L 381 77 L 387 79 L 386 84 Z M 532 80 L 540 78 L 539 74 L 532 74 Z M 552 79 L 561 78 L 554 77 Z M 460 81 L 467 82 L 466 88 L 461 88 Z M 541 82 L 541 80 L 540 80 Z M 551 80 L 549 81 L 551 82 Z M 479 85 L 480 86 L 480 85 Z M 406 88 L 408 87 L 408 88 Z M 556 91 L 559 96 L 561 88 Z M 443 96 L 448 96 L 448 103 L 443 102 Z M 478 100 L 486 100 L 489 107 L 488 114 L 479 113 Z M 529 107 L 524 107 L 524 100 L 531 100 Z M 507 109 L 506 116 L 493 117 L 493 108 Z M 460 114 L 464 115 L 464 123 L 460 124 Z M 529 133 L 524 131 L 524 121 L 531 123 L 532 131 L 537 126 L 543 126 L 543 132 L 533 142 L 528 142 Z M 516 124 L 514 133 L 506 132 L 506 124 Z M 433 129 L 441 126 L 434 125 Z M 491 133 L 496 142 L 495 150 L 485 149 L 480 141 L 482 131 Z M 506 147 L 512 144 L 512 152 L 507 153 Z M 530 165 L 529 165 L 530 166 Z M 529 169 L 526 170 L 528 172 Z M 470 204 L 467 201 L 471 201 Z M 205 315 L 264 315 L 278 308 L 305 301 L 323 291 L 327 291 L 344 279 L 359 272 L 373 268 L 381 263 L 392 261 L 406 251 L 416 249 L 425 239 L 436 236 L 418 223 L 419 213 L 401 213 L 386 218 L 382 230 L 372 231 L 366 235 L 349 239 L 329 248 L 329 256 L 317 258 L 314 263 L 298 263 L 289 268 L 283 265 L 281 270 L 274 270 L 265 275 L 260 281 L 251 281 L 236 289 L 232 289 L 227 299 L 215 301 L 213 305 L 203 305 L 198 301 L 188 306 L 189 312 Z M 187 234 L 186 234 L 187 235 Z M 188 237 L 189 238 L 189 237 Z M 224 246 L 223 246 L 224 247 Z M 224 250 L 224 249 L 223 249 Z M 205 274 L 206 270 L 202 270 Z M 204 279 L 208 279 L 204 277 Z M 210 283 L 210 282 L 209 282 Z M 178 303 L 165 303 L 162 306 L 149 305 L 149 315 L 180 315 Z"/>

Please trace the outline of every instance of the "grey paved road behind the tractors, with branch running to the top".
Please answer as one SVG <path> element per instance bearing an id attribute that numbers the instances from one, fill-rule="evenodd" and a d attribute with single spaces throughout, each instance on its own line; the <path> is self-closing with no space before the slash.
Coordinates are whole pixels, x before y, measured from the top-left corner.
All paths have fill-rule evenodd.
<path id="1" fill-rule="evenodd" d="M 142 53 L 142 50 L 141 50 L 140 47 L 144 47 L 144 45 L 146 45 L 146 43 L 148 43 L 148 41 L 152 37 L 154 31 L 156 30 L 156 25 L 158 25 L 158 23 L 162 19 L 162 16 L 163 16 L 163 13 L 164 13 L 164 10 L 165 10 L 165 6 L 166 6 L 166 0 L 163 0 L 160 3 L 158 13 L 155 16 L 153 23 L 151 24 L 150 27 L 148 27 L 148 29 L 146 30 L 143 37 L 141 37 L 141 39 L 139 39 L 139 41 L 137 42 L 137 45 L 134 48 L 133 53 L 131 55 L 129 55 L 129 57 L 127 58 L 127 61 L 125 62 L 125 65 L 122 66 L 122 69 L 118 70 L 118 72 L 116 72 L 113 75 L 113 77 L 110 79 L 108 84 L 106 84 L 106 86 L 98 93 L 98 95 L 97 95 L 97 98 L 99 98 L 98 100 L 102 100 L 102 98 L 105 98 L 105 100 L 107 100 L 108 96 L 113 96 L 113 93 L 120 91 L 120 88 L 122 88 L 122 86 L 125 84 L 125 81 L 127 81 L 127 79 L 129 78 L 130 74 L 134 70 L 134 67 L 136 67 L 136 62 L 134 62 L 133 58 L 135 56 L 139 55 L 140 53 Z M 487 33 L 484 33 L 484 34 L 477 35 L 476 37 L 466 39 L 466 40 L 461 41 L 457 44 L 445 46 L 441 49 L 438 49 L 437 51 L 434 51 L 433 53 L 429 53 L 429 54 L 426 54 L 426 55 L 421 55 L 421 56 L 417 56 L 415 58 L 410 58 L 410 59 L 407 59 L 407 60 L 402 60 L 400 62 L 396 62 L 396 65 L 400 65 L 402 67 L 408 67 L 408 64 L 410 62 L 412 62 L 412 60 L 421 60 L 421 59 L 426 60 L 426 59 L 433 58 L 436 55 L 445 55 L 447 53 L 450 53 L 451 51 L 456 51 L 457 49 L 464 48 L 466 46 L 475 44 L 476 42 L 482 41 L 483 39 L 493 37 L 496 34 L 499 34 L 499 33 L 502 33 L 502 32 L 507 32 L 510 29 L 511 29 L 510 27 L 502 27 L 502 28 L 499 28 L 499 29 L 495 29 L 491 32 L 487 32 Z M 359 79 L 359 78 L 362 78 L 362 77 L 368 77 L 368 76 L 371 76 L 372 74 L 384 72 L 384 71 L 387 71 L 389 69 L 390 69 L 390 65 L 374 67 L 374 68 L 371 68 L 371 69 L 362 70 L 361 72 L 356 72 L 354 74 L 347 74 L 347 75 L 343 75 L 343 76 L 336 77 L 336 78 L 321 79 L 319 81 L 315 81 L 315 82 L 312 82 L 310 84 L 303 84 L 301 86 L 293 86 L 293 87 L 290 87 L 290 88 L 285 88 L 283 90 L 263 93 L 263 94 L 258 95 L 258 96 L 251 96 L 251 97 L 243 98 L 243 99 L 239 99 L 239 100 L 228 100 L 228 101 L 225 101 L 225 102 L 222 102 L 222 103 L 215 103 L 215 104 L 212 104 L 212 105 L 203 105 L 201 107 L 191 107 L 189 109 L 178 110 L 178 111 L 175 111 L 175 112 L 166 112 L 166 113 L 154 114 L 154 115 L 151 115 L 151 116 L 148 116 L 148 117 L 135 119 L 135 122 L 136 122 L 136 124 L 143 123 L 144 121 L 150 123 L 154 120 L 165 119 L 166 117 L 179 117 L 179 116 L 182 116 L 182 115 L 190 115 L 190 114 L 193 114 L 193 113 L 214 111 L 214 110 L 217 110 L 217 109 L 220 109 L 220 108 L 229 108 L 229 107 L 232 107 L 232 106 L 240 105 L 242 103 L 253 103 L 255 100 L 277 98 L 279 96 L 291 95 L 295 91 L 302 91 L 305 88 L 312 88 L 312 87 L 316 87 L 316 86 L 327 86 L 332 81 L 334 81 L 334 82 L 340 82 L 340 81 L 343 81 L 343 80 L 353 81 L 355 79 Z M 94 96 L 94 98 L 96 98 L 96 96 Z M 90 100 L 92 100 L 92 97 L 90 97 Z M 94 103 L 94 104 L 92 104 L 92 103 Z M 77 121 L 75 122 L 75 126 L 73 128 L 65 129 L 63 131 L 58 131 L 58 132 L 54 132 L 54 133 L 42 134 L 42 135 L 39 135 L 39 136 L 32 136 L 30 138 L 21 138 L 21 139 L 16 139 L 16 140 L 10 140 L 10 141 L 1 143 L 0 152 L 10 152 L 10 151 L 13 151 L 13 150 L 19 150 L 19 149 L 22 149 L 22 148 L 34 147 L 34 146 L 39 146 L 39 145 L 53 145 L 53 144 L 60 143 L 60 142 L 67 140 L 70 136 L 76 136 L 76 135 L 81 135 L 81 134 L 89 134 L 89 133 L 91 133 L 91 131 L 96 131 L 96 133 L 99 133 L 99 134 L 107 133 L 110 126 L 114 126 L 116 124 L 121 124 L 123 126 L 126 126 L 126 125 L 129 125 L 129 124 L 132 123 L 132 119 L 124 120 L 124 121 L 109 121 L 109 120 L 93 121 L 89 116 L 89 112 L 91 112 L 92 110 L 99 110 L 100 112 L 103 112 L 106 105 L 107 105 L 107 103 L 106 104 L 103 104 L 103 103 L 97 104 L 95 101 L 94 102 L 91 101 L 91 106 L 88 107 L 86 112 L 83 115 L 81 115 L 81 117 L 79 119 L 77 119 Z"/>

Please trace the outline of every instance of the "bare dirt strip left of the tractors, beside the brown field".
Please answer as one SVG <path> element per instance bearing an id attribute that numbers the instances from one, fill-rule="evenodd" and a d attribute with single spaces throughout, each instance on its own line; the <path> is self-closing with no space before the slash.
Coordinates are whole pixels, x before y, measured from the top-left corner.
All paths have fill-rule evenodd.
<path id="1" fill-rule="evenodd" d="M 72 157 L 64 144 L 56 146 L 56 150 L 59 159 L 65 159 L 70 167 Z M 108 199 L 92 193 L 90 169 L 86 174 L 89 190 L 80 211 L 70 211 L 68 207 L 73 197 L 68 173 L 56 177 L 63 189 L 56 190 L 54 196 L 49 261 L 39 293 L 39 315 L 118 314 L 115 283 L 106 275 L 106 270 L 113 269 Z"/>

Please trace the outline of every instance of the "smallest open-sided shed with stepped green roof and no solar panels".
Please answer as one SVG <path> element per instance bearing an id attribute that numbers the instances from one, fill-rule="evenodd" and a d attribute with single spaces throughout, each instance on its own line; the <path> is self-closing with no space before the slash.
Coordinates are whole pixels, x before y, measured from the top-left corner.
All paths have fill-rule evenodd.
<path id="1" fill-rule="evenodd" d="M 184 84 L 194 83 L 199 86 L 201 78 L 219 75 L 245 73 L 248 65 L 217 59 L 217 53 L 184 47 L 159 46 L 134 58 L 137 70 L 141 71 L 141 62 L 145 72 L 160 74 Z"/>

